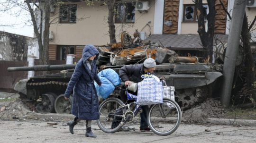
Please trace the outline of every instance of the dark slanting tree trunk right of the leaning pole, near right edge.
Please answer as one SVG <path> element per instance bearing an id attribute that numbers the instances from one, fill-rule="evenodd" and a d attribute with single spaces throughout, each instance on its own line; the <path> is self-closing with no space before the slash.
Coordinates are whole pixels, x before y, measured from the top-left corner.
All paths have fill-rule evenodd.
<path id="1" fill-rule="evenodd" d="M 254 59 L 252 56 L 251 46 L 250 46 L 250 39 L 249 39 L 249 30 L 248 30 L 248 22 L 247 16 L 245 13 L 241 37 L 243 41 L 244 53 L 245 53 L 245 67 L 246 67 L 246 75 L 247 75 L 247 88 L 250 97 L 256 101 L 256 91 L 252 90 L 254 87 L 252 86 L 253 82 L 255 81 L 255 64 Z"/>

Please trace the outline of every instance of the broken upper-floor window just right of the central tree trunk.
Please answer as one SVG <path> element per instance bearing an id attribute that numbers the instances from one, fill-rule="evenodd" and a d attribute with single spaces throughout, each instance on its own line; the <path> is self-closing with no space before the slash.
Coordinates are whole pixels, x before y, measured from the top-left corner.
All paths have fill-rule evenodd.
<path id="1" fill-rule="evenodd" d="M 119 3 L 116 7 L 115 23 L 135 22 L 135 2 Z"/>

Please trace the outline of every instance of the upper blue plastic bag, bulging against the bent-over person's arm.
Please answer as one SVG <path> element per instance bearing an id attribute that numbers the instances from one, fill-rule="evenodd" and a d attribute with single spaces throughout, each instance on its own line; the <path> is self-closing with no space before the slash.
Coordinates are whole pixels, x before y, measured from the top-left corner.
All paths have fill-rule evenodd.
<path id="1" fill-rule="evenodd" d="M 106 77 L 114 86 L 117 86 L 121 83 L 121 79 L 117 72 L 111 68 L 107 68 L 99 72 L 98 76 Z"/>

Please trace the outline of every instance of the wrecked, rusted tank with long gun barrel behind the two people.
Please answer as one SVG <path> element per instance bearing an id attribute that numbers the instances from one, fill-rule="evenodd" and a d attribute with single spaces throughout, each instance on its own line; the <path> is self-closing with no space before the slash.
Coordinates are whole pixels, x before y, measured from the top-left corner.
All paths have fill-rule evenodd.
<path id="1" fill-rule="evenodd" d="M 173 50 L 162 48 L 156 43 L 143 43 L 136 32 L 135 38 L 123 32 L 121 42 L 97 46 L 100 51 L 98 69 L 112 68 L 117 73 L 123 65 L 143 63 L 151 57 L 157 62 L 155 75 L 164 76 L 168 86 L 175 87 L 175 101 L 181 109 L 191 108 L 207 97 L 218 95 L 222 66 L 198 63 L 197 57 L 180 57 Z M 73 74 L 75 65 L 39 65 L 34 67 L 9 67 L 8 71 L 63 70 L 56 74 L 34 76 L 19 81 L 14 90 L 29 101 L 36 101 L 38 112 L 70 113 L 72 98 L 64 100 L 64 92 Z M 217 90 L 215 90 L 217 89 Z M 214 91 L 214 92 L 213 92 Z M 24 95 L 24 96 L 23 96 Z M 110 97 L 120 98 L 116 88 Z"/>

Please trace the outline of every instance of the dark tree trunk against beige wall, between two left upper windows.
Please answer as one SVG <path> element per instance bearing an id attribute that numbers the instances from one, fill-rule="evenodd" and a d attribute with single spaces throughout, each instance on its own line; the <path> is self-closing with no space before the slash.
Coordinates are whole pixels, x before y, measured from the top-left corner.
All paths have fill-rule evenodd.
<path id="1" fill-rule="evenodd" d="M 115 25 L 114 25 L 116 0 L 106 0 L 106 2 L 107 2 L 108 9 L 109 9 L 108 24 L 109 24 L 110 43 L 115 43 L 115 42 L 117 42 L 116 41 L 116 29 L 115 29 Z"/>

